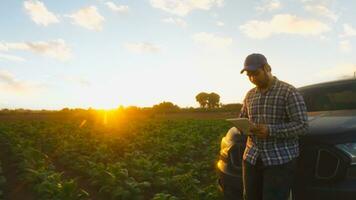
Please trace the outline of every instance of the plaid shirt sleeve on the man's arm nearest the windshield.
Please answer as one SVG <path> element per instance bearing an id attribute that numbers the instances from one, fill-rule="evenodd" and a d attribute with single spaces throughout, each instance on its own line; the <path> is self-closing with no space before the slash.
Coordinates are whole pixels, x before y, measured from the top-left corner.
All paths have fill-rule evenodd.
<path id="1" fill-rule="evenodd" d="M 308 130 L 307 109 L 302 95 L 295 88 L 291 89 L 287 96 L 286 112 L 289 121 L 267 125 L 269 135 L 275 138 L 289 138 L 306 134 Z"/>

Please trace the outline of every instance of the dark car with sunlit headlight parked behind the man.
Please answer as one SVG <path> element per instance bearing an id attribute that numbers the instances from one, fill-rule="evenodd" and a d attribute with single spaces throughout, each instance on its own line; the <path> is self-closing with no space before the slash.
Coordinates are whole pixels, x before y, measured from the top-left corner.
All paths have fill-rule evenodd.
<path id="1" fill-rule="evenodd" d="M 300 137 L 300 156 L 290 199 L 356 199 L 356 79 L 298 89 L 309 131 Z M 221 141 L 217 163 L 225 199 L 242 198 L 241 161 L 246 137 L 233 127 Z"/>

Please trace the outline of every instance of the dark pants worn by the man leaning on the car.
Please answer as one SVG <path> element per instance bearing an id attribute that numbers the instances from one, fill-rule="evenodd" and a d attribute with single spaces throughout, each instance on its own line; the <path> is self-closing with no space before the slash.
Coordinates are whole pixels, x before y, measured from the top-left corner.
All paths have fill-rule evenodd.
<path id="1" fill-rule="evenodd" d="M 293 184 L 296 159 L 274 166 L 242 162 L 244 200 L 287 200 Z"/>

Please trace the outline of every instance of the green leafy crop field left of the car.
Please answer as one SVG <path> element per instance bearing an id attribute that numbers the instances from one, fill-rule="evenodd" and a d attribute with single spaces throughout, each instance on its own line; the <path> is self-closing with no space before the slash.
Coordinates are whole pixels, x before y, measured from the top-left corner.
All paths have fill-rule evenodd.
<path id="1" fill-rule="evenodd" d="M 222 119 L 0 120 L 0 199 L 221 199 Z M 15 186 L 16 187 L 15 187 Z"/>

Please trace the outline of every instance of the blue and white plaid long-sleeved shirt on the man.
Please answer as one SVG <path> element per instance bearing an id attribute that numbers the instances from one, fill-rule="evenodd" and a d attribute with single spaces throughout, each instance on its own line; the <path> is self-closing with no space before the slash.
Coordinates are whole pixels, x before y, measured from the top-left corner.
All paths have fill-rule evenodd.
<path id="1" fill-rule="evenodd" d="M 293 86 L 274 77 L 271 87 L 261 93 L 251 89 L 243 102 L 240 117 L 265 124 L 266 139 L 249 136 L 243 159 L 255 165 L 260 156 L 265 166 L 280 165 L 299 156 L 298 136 L 308 130 L 303 97 Z"/>

